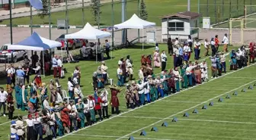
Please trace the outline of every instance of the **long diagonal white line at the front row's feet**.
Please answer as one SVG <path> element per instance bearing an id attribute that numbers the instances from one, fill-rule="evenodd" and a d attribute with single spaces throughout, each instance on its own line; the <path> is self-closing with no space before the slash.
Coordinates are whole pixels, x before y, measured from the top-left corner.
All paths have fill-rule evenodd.
<path id="1" fill-rule="evenodd" d="M 251 66 L 254 66 L 254 65 L 255 65 L 255 64 L 251 64 L 251 65 L 249 65 L 249 66 L 247 66 L 247 67 L 251 67 Z M 232 71 L 232 72 L 230 72 L 230 73 L 226 73 L 226 74 L 224 74 L 223 76 L 227 76 L 227 75 L 229 75 L 229 74 L 238 72 L 238 71 L 240 71 L 240 70 L 244 70 L 245 68 L 246 68 L 246 67 L 243 67 L 242 69 L 235 70 L 235 71 Z M 221 77 L 223 77 L 223 76 L 219 76 L 219 77 L 216 78 L 216 79 L 219 79 L 219 78 L 221 78 Z M 211 82 L 211 81 L 216 80 L 216 79 L 210 79 L 208 82 Z M 203 85 L 203 84 L 205 84 L 205 83 L 207 83 L 207 82 L 203 82 L 203 83 L 200 84 L 200 85 Z M 200 86 L 200 85 L 197 85 L 197 86 Z M 193 87 L 191 87 L 191 88 L 189 88 L 189 89 L 194 89 L 194 88 L 196 88 L 197 86 L 193 86 Z M 187 90 L 189 90 L 189 89 L 184 89 L 184 90 L 182 90 L 181 92 L 185 92 L 185 91 L 187 91 Z M 173 95 L 177 95 L 177 94 L 179 94 L 179 93 L 181 93 L 181 92 L 176 92 L 176 93 L 174 93 L 174 94 L 172 94 L 172 95 L 166 96 L 166 97 L 164 97 L 164 98 L 160 98 L 160 99 L 158 99 L 157 101 L 162 101 L 162 100 L 165 99 L 165 98 L 171 97 L 171 96 L 173 96 Z M 155 102 L 157 102 L 157 101 L 152 101 L 152 102 L 149 103 L 149 104 L 153 104 L 153 103 L 155 103 Z M 111 120 L 111 119 L 114 119 L 115 117 L 119 117 L 119 116 L 121 116 L 121 115 L 123 115 L 123 114 L 130 113 L 130 112 L 132 112 L 132 111 L 134 111 L 134 110 L 137 110 L 137 109 L 139 109 L 139 108 L 141 108 L 141 107 L 146 107 L 146 106 L 148 106 L 149 104 L 145 104 L 145 105 L 143 105 L 143 106 L 136 107 L 136 108 L 134 108 L 133 110 L 128 110 L 128 111 L 123 112 L 123 113 L 121 113 L 121 114 L 118 114 L 118 115 L 116 115 L 116 116 L 114 116 L 114 117 L 110 117 L 110 118 L 107 119 L 107 120 Z M 98 124 L 104 123 L 104 122 L 107 121 L 107 120 L 103 120 L 103 121 L 98 122 L 98 123 L 96 123 L 96 124 L 94 124 L 94 125 L 92 125 L 92 126 L 96 126 L 96 125 L 98 125 Z M 75 131 L 75 132 L 79 132 L 79 131 L 82 131 L 82 130 L 84 130 L 84 129 L 88 129 L 88 128 L 90 128 L 90 127 L 91 127 L 91 126 L 87 126 L 87 127 L 83 128 L 83 129 L 78 129 L 78 130 Z M 56 139 L 64 138 L 64 137 L 66 137 L 66 136 L 68 136 L 68 135 L 74 134 L 75 132 L 70 132 L 69 134 L 63 135 L 63 136 L 58 137 L 58 138 L 56 138 Z"/>

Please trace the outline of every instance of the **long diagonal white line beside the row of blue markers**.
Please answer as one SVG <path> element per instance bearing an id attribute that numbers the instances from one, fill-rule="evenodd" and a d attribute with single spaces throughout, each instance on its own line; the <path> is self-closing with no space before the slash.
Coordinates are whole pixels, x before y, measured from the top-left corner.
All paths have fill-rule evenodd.
<path id="1" fill-rule="evenodd" d="M 252 82 L 255 82 L 255 81 L 256 81 L 256 80 L 253 80 L 253 81 L 251 81 L 251 82 L 248 82 L 248 83 L 246 83 L 246 84 L 243 85 L 243 86 L 239 86 L 238 88 L 235 88 L 235 89 L 230 90 L 229 92 L 232 92 L 232 91 L 235 91 L 235 90 L 237 90 L 237 89 L 240 89 L 240 88 L 242 88 L 242 87 L 244 87 L 244 86 L 247 86 L 248 84 L 251 84 Z M 203 101 L 203 102 L 201 102 L 200 104 L 195 105 L 194 107 L 197 107 L 197 106 L 199 106 L 199 105 L 201 105 L 201 104 L 205 104 L 206 102 L 212 101 L 212 100 L 215 99 L 215 98 L 219 98 L 219 97 L 221 97 L 222 95 L 226 95 L 226 94 L 228 94 L 229 92 L 225 92 L 225 93 L 223 93 L 223 94 L 221 94 L 221 95 L 217 95 L 216 97 L 210 98 L 209 100 L 206 100 L 206 101 Z M 163 120 L 167 120 L 167 119 L 169 119 L 170 117 L 174 117 L 175 115 L 178 115 L 178 114 L 181 114 L 181 113 L 183 113 L 183 112 L 185 112 L 185 111 L 187 111 L 187 110 L 193 109 L 194 107 L 190 107 L 190 108 L 187 108 L 187 109 L 185 109 L 185 110 L 181 110 L 180 112 L 178 112 L 178 113 L 176 113 L 176 114 L 172 114 L 172 115 L 169 116 L 169 117 L 165 117 L 165 118 L 162 119 L 162 120 L 158 120 L 157 122 L 152 123 L 152 124 L 150 124 L 149 126 L 153 126 L 153 125 L 155 125 L 156 123 L 160 123 L 160 122 L 162 122 Z M 137 129 L 137 130 L 135 130 L 135 131 L 133 131 L 133 132 L 130 132 L 130 133 L 127 134 L 127 135 L 124 135 L 123 137 L 127 137 L 127 136 L 129 136 L 129 135 L 132 135 L 133 133 L 139 132 L 139 131 L 141 131 L 142 129 L 146 129 L 146 128 L 148 128 L 149 126 L 145 126 L 145 127 L 142 127 L 141 129 Z M 117 138 L 117 140 L 122 139 L 123 137 Z"/>

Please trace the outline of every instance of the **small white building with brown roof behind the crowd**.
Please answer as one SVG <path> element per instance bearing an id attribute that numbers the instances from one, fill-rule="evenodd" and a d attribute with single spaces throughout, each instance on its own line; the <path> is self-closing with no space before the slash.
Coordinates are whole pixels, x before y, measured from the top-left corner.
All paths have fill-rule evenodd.
<path id="1" fill-rule="evenodd" d="M 162 17 L 162 41 L 166 42 L 168 37 L 178 38 L 181 42 L 187 40 L 187 36 L 198 37 L 198 20 L 200 14 L 184 11 Z"/>

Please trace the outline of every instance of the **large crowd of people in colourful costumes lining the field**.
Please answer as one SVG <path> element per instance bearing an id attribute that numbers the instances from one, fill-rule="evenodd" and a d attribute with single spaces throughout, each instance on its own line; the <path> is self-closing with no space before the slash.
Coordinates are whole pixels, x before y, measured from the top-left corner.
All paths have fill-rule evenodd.
<path id="1" fill-rule="evenodd" d="M 237 70 L 248 65 L 248 62 L 254 63 L 256 54 L 255 43 L 250 43 L 249 48 L 242 46 L 238 51 L 232 50 L 229 54 L 226 52 L 227 36 L 224 36 L 222 43 L 224 50 L 219 52 L 218 36 L 211 39 L 210 43 L 205 39 L 205 56 L 209 54 L 210 45 L 212 62 L 210 70 L 212 78 L 226 73 L 226 57 L 230 56 L 230 70 Z M 194 46 L 193 46 L 194 44 Z M 117 86 L 109 86 L 110 95 L 107 91 L 107 84 L 110 80 L 108 76 L 108 67 L 106 62 L 102 61 L 101 66 L 94 71 L 91 86 L 94 89 L 92 95 L 85 97 L 80 86 L 81 70 L 75 67 L 72 77 L 68 77 L 68 95 L 59 84 L 59 78 L 62 77 L 61 58 L 55 55 L 50 62 L 53 66 L 53 77 L 49 84 L 41 81 L 41 64 L 32 59 L 32 69 L 36 75 L 32 82 L 29 79 L 30 61 L 25 60 L 23 67 L 15 70 L 10 65 L 7 72 L 6 91 L 0 88 L 0 110 L 3 107 L 3 116 L 5 116 L 5 107 L 8 107 L 8 119 L 11 121 L 11 139 L 29 140 L 47 139 L 62 136 L 65 133 L 91 126 L 98 121 L 110 117 L 108 107 L 111 107 L 111 114 L 120 113 L 120 103 L 118 94 L 125 90 L 127 108 L 135 108 L 146 103 L 156 101 L 159 98 L 180 92 L 192 86 L 208 81 L 208 65 L 206 61 L 199 63 L 201 44 L 198 39 L 193 40 L 189 36 L 187 42 L 181 44 L 178 39 L 172 42 L 168 40 L 168 53 L 174 57 L 174 68 L 166 70 L 167 55 L 161 51 L 158 44 L 155 45 L 153 57 L 151 54 L 142 55 L 141 67 L 138 70 L 139 79 L 136 82 L 133 78 L 133 61 L 130 55 L 126 58 L 120 58 L 117 63 Z M 194 48 L 194 49 L 193 49 Z M 193 54 L 195 62 L 190 61 Z M 37 60 L 37 59 L 36 59 Z M 154 73 L 154 67 L 161 67 L 160 75 Z M 28 76 L 28 78 L 27 78 Z M 25 86 L 25 79 L 27 86 Z M 14 86 L 14 96 L 12 95 Z M 123 89 L 120 87 L 124 86 Z M 48 92 L 48 89 L 49 92 Z M 123 94 L 123 93 L 122 93 Z M 109 97 L 110 96 L 110 100 Z M 14 110 L 26 110 L 27 117 L 18 117 L 13 120 Z M 26 122 L 26 124 L 24 124 Z"/>

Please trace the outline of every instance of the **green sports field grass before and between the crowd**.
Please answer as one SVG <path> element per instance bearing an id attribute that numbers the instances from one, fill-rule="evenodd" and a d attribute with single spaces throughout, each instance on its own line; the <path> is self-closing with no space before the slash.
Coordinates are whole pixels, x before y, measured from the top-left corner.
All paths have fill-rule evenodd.
<path id="1" fill-rule="evenodd" d="M 160 49 L 165 48 L 167 48 L 166 45 L 160 45 Z M 137 78 L 136 71 L 139 70 L 141 54 L 152 54 L 153 50 L 152 47 L 142 51 L 141 45 L 138 45 L 134 48 L 114 51 L 113 56 L 115 58 L 106 61 L 110 77 L 114 78 L 115 83 L 117 82 L 117 61 L 119 58 L 125 57 L 126 54 L 130 54 L 134 62 L 134 75 Z M 210 66 L 210 60 L 206 59 L 206 61 Z M 227 67 L 229 67 L 229 58 L 226 61 Z M 91 95 L 92 88 L 89 82 L 91 82 L 92 72 L 97 69 L 99 64 L 95 64 L 94 61 L 81 61 L 77 65 L 82 69 L 83 94 Z M 75 64 L 66 64 L 65 67 L 72 72 Z M 168 57 L 168 69 L 172 67 L 173 60 Z M 155 73 L 159 72 L 159 69 L 155 69 Z M 210 70 L 208 73 L 210 76 Z M 81 129 L 79 132 L 65 135 L 62 139 L 128 139 L 130 135 L 133 135 L 135 139 L 253 139 L 254 134 L 251 133 L 251 130 L 256 124 L 256 120 L 254 120 L 254 112 L 250 112 L 250 110 L 256 107 L 253 100 L 255 95 L 253 90 L 246 93 L 240 91 L 243 87 L 247 88 L 254 84 L 255 73 L 254 66 L 235 72 L 228 70 L 226 76 L 211 79 L 210 82 L 203 85 L 193 89 L 185 89 L 177 95 L 168 96 L 135 110 L 126 109 L 125 99 L 120 94 L 122 114 L 111 116 L 110 120 L 104 120 L 94 126 Z M 71 73 L 67 73 L 66 77 L 69 74 L 71 76 Z M 53 77 L 46 76 L 43 78 L 43 82 L 47 83 L 51 78 Z M 60 82 L 63 89 L 67 89 L 67 79 L 61 79 Z M 232 92 L 236 89 L 238 96 L 232 96 Z M 230 99 L 225 98 L 227 94 L 231 95 Z M 224 99 L 224 102 L 217 102 L 220 97 Z M 210 101 L 214 101 L 213 107 L 201 110 L 203 104 L 207 105 Z M 192 114 L 194 109 L 199 110 L 199 114 Z M 182 117 L 184 112 L 189 113 L 190 117 Z M 14 116 L 18 114 L 26 115 L 27 113 L 15 110 Z M 172 117 L 178 117 L 178 122 L 171 123 Z M 168 123 L 168 127 L 161 127 L 164 121 Z M 0 117 L 0 135 L 2 138 L 8 138 L 9 123 L 6 117 Z M 152 126 L 156 126 L 158 132 L 150 132 Z M 142 129 L 147 132 L 146 136 L 139 136 Z M 239 132 L 236 134 L 236 138 L 232 133 L 235 130 Z"/>

